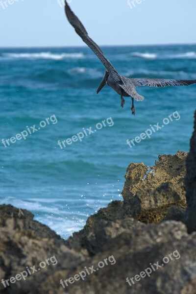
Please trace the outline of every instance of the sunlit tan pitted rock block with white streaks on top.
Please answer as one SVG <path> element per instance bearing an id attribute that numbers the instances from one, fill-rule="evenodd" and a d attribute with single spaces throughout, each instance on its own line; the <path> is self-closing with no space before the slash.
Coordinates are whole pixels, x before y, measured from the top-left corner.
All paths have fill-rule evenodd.
<path id="1" fill-rule="evenodd" d="M 157 223 L 173 205 L 186 208 L 184 177 L 187 153 L 160 155 L 154 167 L 131 164 L 123 188 L 125 214 L 139 221 Z"/>

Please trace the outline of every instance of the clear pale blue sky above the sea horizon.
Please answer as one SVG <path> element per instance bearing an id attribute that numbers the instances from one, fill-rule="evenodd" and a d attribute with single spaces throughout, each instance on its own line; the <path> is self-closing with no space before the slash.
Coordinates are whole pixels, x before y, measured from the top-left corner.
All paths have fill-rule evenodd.
<path id="1" fill-rule="evenodd" d="M 196 0 L 68 1 L 100 46 L 196 44 Z M 84 46 L 62 3 L 0 0 L 0 47 Z"/>

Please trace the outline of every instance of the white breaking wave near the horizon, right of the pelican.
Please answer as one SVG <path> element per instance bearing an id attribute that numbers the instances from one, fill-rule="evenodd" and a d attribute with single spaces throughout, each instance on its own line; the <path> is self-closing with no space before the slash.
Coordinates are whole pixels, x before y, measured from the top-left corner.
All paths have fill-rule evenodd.
<path id="1" fill-rule="evenodd" d="M 178 53 L 178 54 L 165 54 L 159 55 L 157 53 L 141 53 L 141 52 L 132 52 L 130 53 L 132 57 L 139 57 L 144 59 L 196 59 L 196 52 L 190 51 L 185 53 Z"/>

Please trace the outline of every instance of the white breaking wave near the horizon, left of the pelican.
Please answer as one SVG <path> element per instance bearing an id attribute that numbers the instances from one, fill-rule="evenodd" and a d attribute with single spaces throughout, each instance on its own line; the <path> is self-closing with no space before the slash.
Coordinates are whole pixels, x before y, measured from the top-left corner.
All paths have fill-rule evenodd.
<path id="1" fill-rule="evenodd" d="M 51 52 L 38 52 L 38 53 L 2 53 L 3 57 L 9 58 L 22 58 L 22 59 L 52 59 L 62 60 L 66 58 L 80 59 L 84 58 L 82 52 L 78 53 L 51 53 Z"/>

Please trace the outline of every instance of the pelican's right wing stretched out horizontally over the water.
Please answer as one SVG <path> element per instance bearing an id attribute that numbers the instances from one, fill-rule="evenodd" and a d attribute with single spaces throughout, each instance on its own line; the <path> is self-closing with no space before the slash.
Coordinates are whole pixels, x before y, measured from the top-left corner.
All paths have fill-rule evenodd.
<path id="1" fill-rule="evenodd" d="M 148 86 L 148 87 L 168 87 L 168 86 L 189 86 L 196 83 L 196 80 L 174 80 L 164 78 L 132 78 L 135 87 Z"/>

